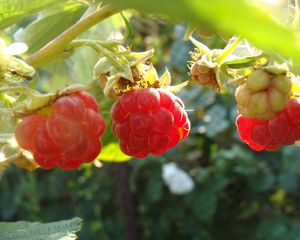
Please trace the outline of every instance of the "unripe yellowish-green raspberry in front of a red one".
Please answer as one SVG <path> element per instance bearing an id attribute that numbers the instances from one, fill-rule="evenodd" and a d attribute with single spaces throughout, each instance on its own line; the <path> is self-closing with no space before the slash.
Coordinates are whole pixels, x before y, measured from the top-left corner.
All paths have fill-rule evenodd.
<path id="1" fill-rule="evenodd" d="M 275 75 L 255 70 L 235 93 L 237 108 L 248 118 L 271 119 L 287 105 L 291 80 L 285 74 Z"/>

